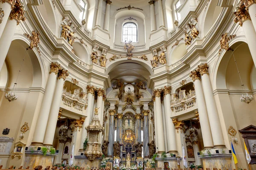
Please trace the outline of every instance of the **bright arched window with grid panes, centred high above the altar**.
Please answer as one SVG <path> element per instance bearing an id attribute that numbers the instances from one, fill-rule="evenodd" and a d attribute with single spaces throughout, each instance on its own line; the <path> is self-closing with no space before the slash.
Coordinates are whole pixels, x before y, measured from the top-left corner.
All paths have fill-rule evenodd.
<path id="1" fill-rule="evenodd" d="M 135 23 L 129 22 L 123 25 L 122 31 L 122 42 L 138 42 L 137 38 L 137 25 Z"/>

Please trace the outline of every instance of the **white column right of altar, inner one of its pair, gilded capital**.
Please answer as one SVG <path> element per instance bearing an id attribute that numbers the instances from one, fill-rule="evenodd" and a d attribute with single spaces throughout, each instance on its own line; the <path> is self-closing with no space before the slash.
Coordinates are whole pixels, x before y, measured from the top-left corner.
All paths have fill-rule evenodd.
<path id="1" fill-rule="evenodd" d="M 154 97 L 156 102 L 156 110 L 155 110 L 155 116 L 156 116 L 156 123 L 155 127 L 157 126 L 157 147 L 158 151 L 157 153 L 163 153 L 165 152 L 165 145 L 164 145 L 164 133 L 163 133 L 163 116 L 162 116 L 162 108 L 161 108 L 161 89 L 154 90 Z"/>

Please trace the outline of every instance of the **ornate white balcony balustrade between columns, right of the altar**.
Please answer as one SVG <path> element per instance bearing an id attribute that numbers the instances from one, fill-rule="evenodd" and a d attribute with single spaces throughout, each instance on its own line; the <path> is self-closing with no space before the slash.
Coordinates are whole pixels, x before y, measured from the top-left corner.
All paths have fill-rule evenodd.
<path id="1" fill-rule="evenodd" d="M 179 94 L 175 94 L 174 99 L 171 101 L 172 112 L 183 114 L 197 109 L 195 98 L 195 90 L 189 90 L 187 94 L 185 90 L 180 90 Z"/>

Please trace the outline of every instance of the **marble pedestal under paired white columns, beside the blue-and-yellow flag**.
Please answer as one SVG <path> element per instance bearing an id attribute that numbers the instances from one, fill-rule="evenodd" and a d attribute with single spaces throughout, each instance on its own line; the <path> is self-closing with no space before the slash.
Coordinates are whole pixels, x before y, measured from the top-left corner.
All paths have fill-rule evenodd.
<path id="1" fill-rule="evenodd" d="M 235 167 L 232 167 L 232 154 L 227 153 L 218 153 L 209 155 L 200 155 L 198 156 L 203 160 L 203 167 L 205 168 L 217 168 L 217 169 L 229 169 L 232 170 Z"/>

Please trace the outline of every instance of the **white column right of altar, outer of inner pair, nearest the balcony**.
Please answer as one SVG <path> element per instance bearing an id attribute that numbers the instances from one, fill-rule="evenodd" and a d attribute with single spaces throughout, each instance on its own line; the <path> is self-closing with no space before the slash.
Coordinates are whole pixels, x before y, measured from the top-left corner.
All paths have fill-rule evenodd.
<path id="1" fill-rule="evenodd" d="M 165 107 L 166 107 L 166 119 L 167 119 L 167 133 L 168 133 L 168 153 L 177 153 L 176 135 L 175 127 L 172 124 L 171 114 L 171 86 L 165 86 Z"/>

